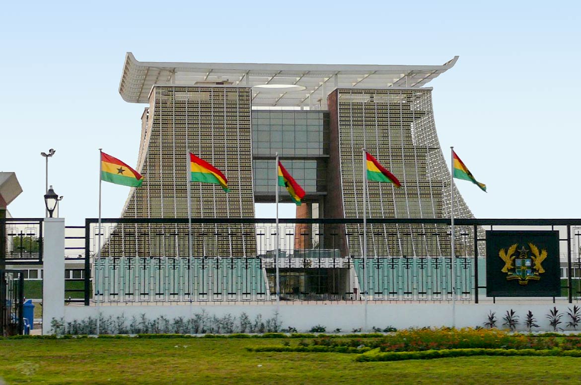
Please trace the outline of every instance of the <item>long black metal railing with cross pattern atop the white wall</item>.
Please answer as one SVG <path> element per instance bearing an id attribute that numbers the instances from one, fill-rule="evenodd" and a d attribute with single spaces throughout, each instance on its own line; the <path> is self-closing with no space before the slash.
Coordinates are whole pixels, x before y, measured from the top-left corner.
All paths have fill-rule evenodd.
<path id="1" fill-rule="evenodd" d="M 452 264 L 450 220 L 372 218 L 365 266 L 361 219 L 281 219 L 278 252 L 274 219 L 194 219 L 191 233 L 187 219 L 96 222 L 85 226 L 85 305 L 275 301 L 277 265 L 281 301 L 362 301 L 366 280 L 375 301 L 479 302 L 485 230 L 523 226 L 558 230 L 561 264 L 581 268 L 581 220 L 456 219 Z M 581 294 L 562 283 L 569 301 Z"/>

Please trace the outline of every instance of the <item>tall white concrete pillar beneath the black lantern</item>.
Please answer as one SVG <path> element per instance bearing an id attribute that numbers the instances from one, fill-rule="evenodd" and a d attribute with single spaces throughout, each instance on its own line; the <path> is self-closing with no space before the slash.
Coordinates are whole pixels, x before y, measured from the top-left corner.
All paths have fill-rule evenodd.
<path id="1" fill-rule="evenodd" d="M 51 334 L 52 319 L 64 316 L 64 218 L 44 219 L 42 334 Z"/>

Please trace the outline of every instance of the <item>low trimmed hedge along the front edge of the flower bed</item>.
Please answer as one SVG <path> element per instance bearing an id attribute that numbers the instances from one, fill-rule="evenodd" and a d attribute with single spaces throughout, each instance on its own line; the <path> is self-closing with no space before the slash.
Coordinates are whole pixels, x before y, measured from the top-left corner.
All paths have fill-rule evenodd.
<path id="1" fill-rule="evenodd" d="M 378 350 L 370 351 L 358 355 L 356 361 L 403 361 L 407 359 L 433 359 L 447 357 L 469 357 L 475 355 L 494 355 L 494 356 L 566 356 L 581 357 L 581 350 L 534 350 L 534 349 L 448 349 L 448 350 L 425 350 L 415 352 L 379 352 Z"/>

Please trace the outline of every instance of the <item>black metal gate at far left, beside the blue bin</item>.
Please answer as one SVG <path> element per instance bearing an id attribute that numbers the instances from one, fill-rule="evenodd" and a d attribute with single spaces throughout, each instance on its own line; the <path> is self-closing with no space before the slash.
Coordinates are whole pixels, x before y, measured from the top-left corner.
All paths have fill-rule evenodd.
<path id="1" fill-rule="evenodd" d="M 0 336 L 24 332 L 24 275 L 20 270 L 0 270 Z"/>

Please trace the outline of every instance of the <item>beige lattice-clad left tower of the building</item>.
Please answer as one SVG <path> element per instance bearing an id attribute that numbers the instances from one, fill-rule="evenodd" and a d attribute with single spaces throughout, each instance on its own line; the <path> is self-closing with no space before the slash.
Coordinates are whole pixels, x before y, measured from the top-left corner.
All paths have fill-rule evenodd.
<path id="1" fill-rule="evenodd" d="M 142 116 L 141 147 L 137 169 L 145 175 L 144 183 L 133 188 L 122 218 L 188 218 L 187 186 L 189 179 L 188 152 L 216 166 L 228 177 L 229 193 L 214 184 L 191 184 L 192 218 L 254 218 L 252 186 L 252 142 L 250 130 L 250 89 L 242 87 L 154 87 L 150 106 Z M 218 230 L 200 225 L 202 233 Z M 207 227 L 207 228 L 206 228 Z M 217 245 L 217 237 L 193 240 L 193 256 L 240 257 L 256 254 L 256 238 L 243 224 L 232 233 L 231 243 Z M 112 231 L 111 248 L 123 249 L 124 255 L 136 255 L 139 233 L 161 231 L 155 224 L 145 228 L 135 226 L 134 234 Z M 166 231 L 166 230 L 164 230 Z M 187 231 L 175 227 L 174 233 Z M 235 234 L 235 235 L 234 235 Z M 120 243 L 124 243 L 120 247 Z M 148 252 L 153 248 L 144 246 Z M 174 247 L 175 248 L 175 247 Z M 209 254 L 211 251 L 211 254 Z M 173 255 L 170 246 L 160 249 L 163 255 Z M 150 254 L 150 252 L 148 252 Z"/>

